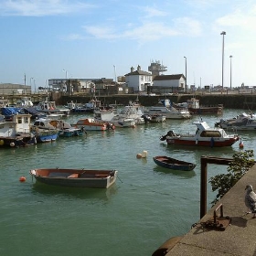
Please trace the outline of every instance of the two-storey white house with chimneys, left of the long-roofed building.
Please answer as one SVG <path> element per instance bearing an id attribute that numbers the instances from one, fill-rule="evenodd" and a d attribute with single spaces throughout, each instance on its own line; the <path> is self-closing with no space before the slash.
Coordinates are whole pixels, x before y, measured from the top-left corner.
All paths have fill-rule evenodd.
<path id="1" fill-rule="evenodd" d="M 132 67 L 131 72 L 124 76 L 127 86 L 133 87 L 134 91 L 147 91 L 147 87 L 152 86 L 152 74 L 141 70 L 140 66 L 137 70 Z"/>

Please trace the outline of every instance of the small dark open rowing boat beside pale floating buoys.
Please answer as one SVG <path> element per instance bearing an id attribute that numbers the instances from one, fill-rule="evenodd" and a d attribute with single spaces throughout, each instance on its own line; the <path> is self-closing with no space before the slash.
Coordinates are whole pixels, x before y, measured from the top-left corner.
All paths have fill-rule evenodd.
<path id="1" fill-rule="evenodd" d="M 154 156 L 153 160 L 156 165 L 173 170 L 192 171 L 196 167 L 195 164 L 177 160 L 175 158 L 171 158 L 165 155 Z"/>

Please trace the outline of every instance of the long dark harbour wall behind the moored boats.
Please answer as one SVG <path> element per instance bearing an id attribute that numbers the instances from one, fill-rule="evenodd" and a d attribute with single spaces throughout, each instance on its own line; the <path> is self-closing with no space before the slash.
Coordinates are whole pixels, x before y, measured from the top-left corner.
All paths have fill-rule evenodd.
<path id="1" fill-rule="evenodd" d="M 81 95 L 59 95 L 59 93 L 52 93 L 51 100 L 56 101 L 58 105 L 67 105 L 68 102 L 87 103 L 91 100 L 91 96 Z M 174 103 L 185 102 L 191 98 L 199 100 L 200 105 L 214 106 L 223 104 L 227 109 L 244 109 L 244 110 L 256 110 L 256 94 L 176 94 L 170 96 L 145 96 L 137 94 L 125 94 L 125 95 L 104 95 L 97 96 L 97 100 L 101 101 L 101 104 L 119 104 L 127 105 L 129 101 L 138 100 L 144 106 L 154 106 L 159 100 L 169 99 Z"/>

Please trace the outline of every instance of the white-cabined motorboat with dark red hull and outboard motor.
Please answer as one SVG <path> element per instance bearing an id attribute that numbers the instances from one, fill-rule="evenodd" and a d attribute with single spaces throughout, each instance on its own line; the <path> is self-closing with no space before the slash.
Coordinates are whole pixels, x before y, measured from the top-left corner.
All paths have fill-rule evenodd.
<path id="1" fill-rule="evenodd" d="M 169 131 L 161 136 L 160 140 L 166 141 L 167 144 L 210 147 L 230 146 L 240 140 L 238 134 L 228 134 L 222 128 L 210 128 L 206 122 L 198 121 L 193 124 L 197 126 L 195 134 Z"/>

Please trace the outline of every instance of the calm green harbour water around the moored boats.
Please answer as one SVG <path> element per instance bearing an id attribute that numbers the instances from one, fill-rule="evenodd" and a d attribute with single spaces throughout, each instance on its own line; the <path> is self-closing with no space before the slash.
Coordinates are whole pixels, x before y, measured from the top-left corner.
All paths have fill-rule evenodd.
<path id="1" fill-rule="evenodd" d="M 243 110 L 224 110 L 231 118 Z M 69 123 L 84 117 L 72 115 Z M 220 116 L 204 116 L 210 126 Z M 227 148 L 167 146 L 159 137 L 169 130 L 195 133 L 198 116 L 135 128 L 88 132 L 50 144 L 0 150 L 0 254 L 112 256 L 151 255 L 165 240 L 184 235 L 199 219 L 200 157 L 231 157 Z M 244 150 L 253 149 L 255 132 L 239 133 Z M 144 150 L 147 158 L 137 159 Z M 154 155 L 169 155 L 197 164 L 194 171 L 166 171 Z M 28 172 L 41 167 L 116 169 L 108 189 L 49 187 Z M 209 165 L 208 177 L 227 166 Z M 19 182 L 26 176 L 26 182 Z M 214 198 L 208 185 L 208 208 Z"/>

